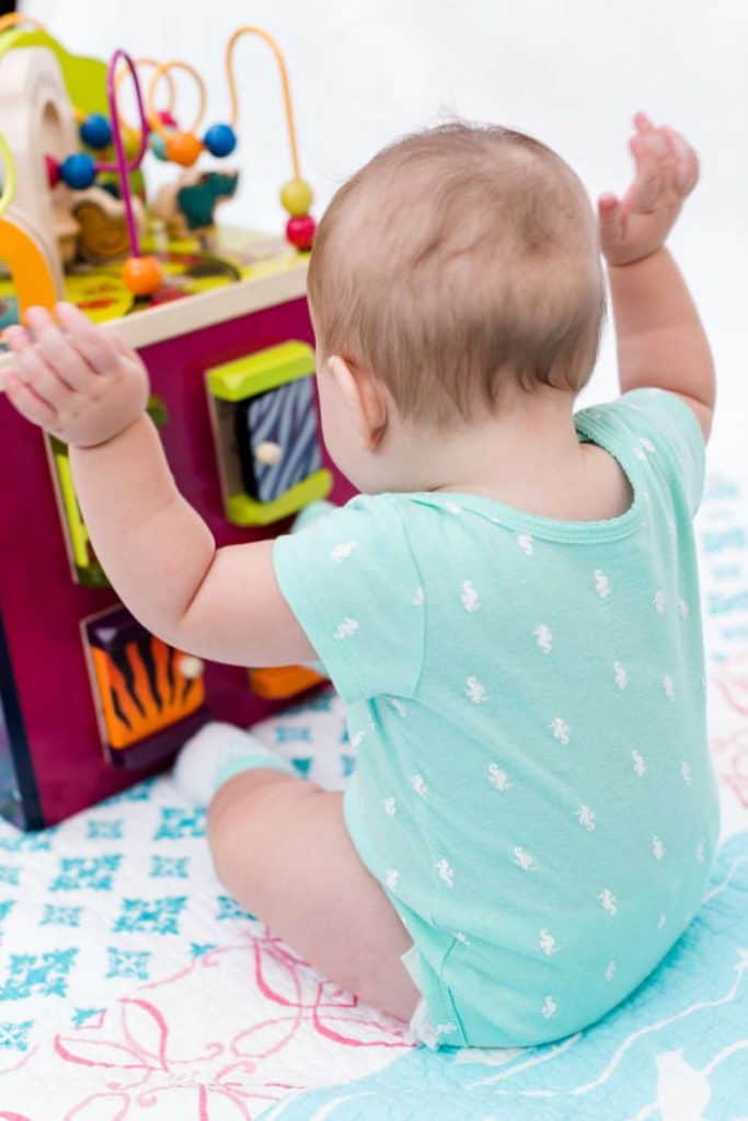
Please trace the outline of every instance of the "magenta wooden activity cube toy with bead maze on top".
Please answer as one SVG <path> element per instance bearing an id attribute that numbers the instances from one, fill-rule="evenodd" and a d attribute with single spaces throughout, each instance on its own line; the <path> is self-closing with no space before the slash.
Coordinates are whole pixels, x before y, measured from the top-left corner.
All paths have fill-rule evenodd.
<path id="1" fill-rule="evenodd" d="M 232 58 L 247 34 L 270 46 L 281 76 L 286 240 L 216 226 L 238 173 L 197 166 L 238 147 Z M 176 71 L 201 91 L 187 128 Z M 194 67 L 122 50 L 107 65 L 70 54 L 27 17 L 0 19 L 0 330 L 61 298 L 111 321 L 148 365 L 148 410 L 169 465 L 220 546 L 285 529 L 331 490 L 336 500 L 349 493 L 317 432 L 304 295 L 315 226 L 285 62 L 266 31 L 240 28 L 227 74 L 231 119 L 198 139 L 206 94 Z M 137 127 L 118 105 L 123 81 L 135 85 Z M 183 168 L 156 200 L 149 152 Z M 67 447 L 2 401 L 0 445 L 0 814 L 25 828 L 52 825 L 165 766 L 204 721 L 247 725 L 323 680 L 301 666 L 203 661 L 148 633 L 96 558 Z"/>

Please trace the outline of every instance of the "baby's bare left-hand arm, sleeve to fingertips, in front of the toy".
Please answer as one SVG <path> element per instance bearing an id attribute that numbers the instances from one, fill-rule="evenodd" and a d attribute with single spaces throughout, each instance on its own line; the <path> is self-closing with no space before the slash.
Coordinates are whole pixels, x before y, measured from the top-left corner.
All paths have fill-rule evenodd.
<path id="1" fill-rule="evenodd" d="M 7 333 L 7 396 L 71 445 L 75 489 L 104 572 L 133 615 L 179 649 L 241 666 L 315 652 L 276 583 L 270 541 L 216 549 L 182 497 L 145 413 L 148 376 L 76 308 L 41 308 Z"/>

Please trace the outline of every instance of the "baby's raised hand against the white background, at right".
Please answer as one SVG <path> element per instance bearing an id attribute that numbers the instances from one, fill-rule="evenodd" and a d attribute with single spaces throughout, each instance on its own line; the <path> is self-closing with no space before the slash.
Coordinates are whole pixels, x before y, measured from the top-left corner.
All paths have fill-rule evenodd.
<path id="1" fill-rule="evenodd" d="M 655 128 L 645 113 L 634 123 L 634 183 L 622 200 L 602 195 L 598 203 L 600 247 L 609 265 L 631 265 L 661 249 L 699 179 L 696 154 L 680 132 Z"/>

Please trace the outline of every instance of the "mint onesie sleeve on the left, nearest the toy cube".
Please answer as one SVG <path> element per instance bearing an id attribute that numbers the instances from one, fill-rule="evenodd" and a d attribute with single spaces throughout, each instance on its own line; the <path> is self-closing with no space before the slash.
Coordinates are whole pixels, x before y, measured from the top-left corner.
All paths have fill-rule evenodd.
<path id="1" fill-rule="evenodd" d="M 397 498 L 359 495 L 279 537 L 278 585 L 348 704 L 410 696 L 421 675 L 423 593 Z"/>

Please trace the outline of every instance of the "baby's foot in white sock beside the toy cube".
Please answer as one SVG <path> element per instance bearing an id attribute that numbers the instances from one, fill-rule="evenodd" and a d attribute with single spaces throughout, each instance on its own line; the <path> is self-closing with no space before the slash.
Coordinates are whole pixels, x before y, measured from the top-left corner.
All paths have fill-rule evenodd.
<path id="1" fill-rule="evenodd" d="M 182 748 L 174 765 L 174 785 L 191 805 L 206 806 L 223 782 L 258 767 L 296 773 L 292 763 L 266 748 L 251 732 L 211 722 Z"/>

